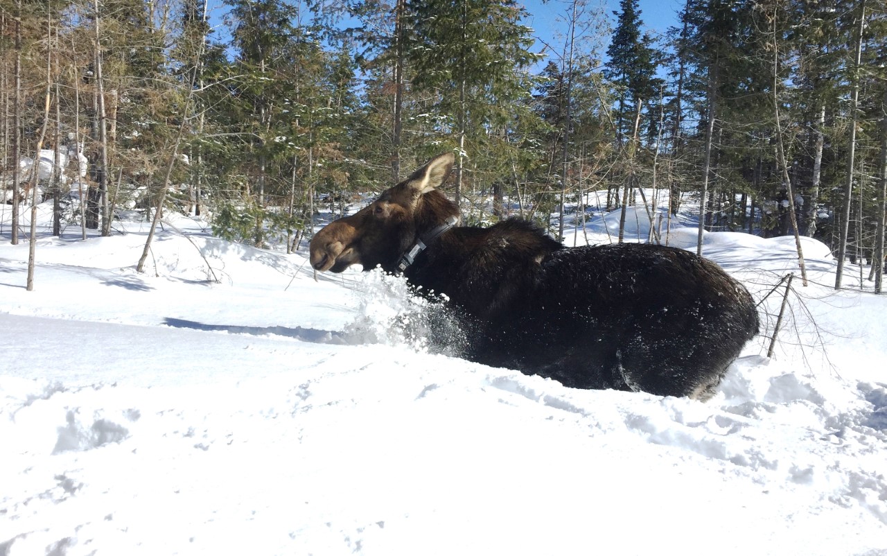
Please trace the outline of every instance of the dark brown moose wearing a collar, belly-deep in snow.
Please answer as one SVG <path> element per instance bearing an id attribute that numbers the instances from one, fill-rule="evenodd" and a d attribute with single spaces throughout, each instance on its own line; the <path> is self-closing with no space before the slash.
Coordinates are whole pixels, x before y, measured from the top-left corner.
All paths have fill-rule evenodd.
<path id="1" fill-rule="evenodd" d="M 465 358 L 569 388 L 707 400 L 758 330 L 742 284 L 674 247 L 564 247 L 510 218 L 456 226 L 437 188 L 452 153 L 428 161 L 354 215 L 311 239 L 315 270 L 352 264 L 401 273 L 443 294 L 467 331 Z"/>

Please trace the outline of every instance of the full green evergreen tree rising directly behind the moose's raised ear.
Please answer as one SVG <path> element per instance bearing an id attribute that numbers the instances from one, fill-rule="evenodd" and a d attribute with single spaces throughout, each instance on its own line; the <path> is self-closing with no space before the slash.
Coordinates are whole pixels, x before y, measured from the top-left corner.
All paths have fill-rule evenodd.
<path id="1" fill-rule="evenodd" d="M 506 129 L 514 122 L 514 109 L 527 106 L 520 102 L 530 98 L 533 85 L 527 69 L 538 56 L 530 51 L 530 28 L 521 23 L 526 11 L 514 1 L 420 0 L 410 3 L 408 10 L 413 86 L 433 92 L 437 113 L 451 118 L 446 127 L 459 153 L 455 170 L 459 202 L 465 157 L 479 164 L 484 144 L 487 153 L 492 145 L 503 145 L 504 137 L 495 130 Z M 439 151 L 440 146 L 434 149 Z M 490 158 L 507 161 L 496 154 Z M 505 164 L 495 165 L 501 166 Z"/>

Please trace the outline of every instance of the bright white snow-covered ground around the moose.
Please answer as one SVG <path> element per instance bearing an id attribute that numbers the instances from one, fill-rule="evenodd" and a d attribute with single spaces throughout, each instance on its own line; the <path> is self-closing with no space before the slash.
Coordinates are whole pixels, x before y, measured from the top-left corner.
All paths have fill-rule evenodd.
<path id="1" fill-rule="evenodd" d="M 773 359 L 698 403 L 436 353 L 398 279 L 170 219 L 145 274 L 144 223 L 42 230 L 33 292 L 4 223 L 0 555 L 887 554 L 887 299 L 816 241 Z M 758 300 L 797 269 L 791 238 L 705 253 Z"/>

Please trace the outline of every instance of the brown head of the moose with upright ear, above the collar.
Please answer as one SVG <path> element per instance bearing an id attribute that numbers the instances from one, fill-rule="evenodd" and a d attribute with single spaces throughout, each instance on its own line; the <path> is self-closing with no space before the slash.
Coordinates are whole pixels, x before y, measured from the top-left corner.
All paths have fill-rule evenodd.
<path id="1" fill-rule="evenodd" d="M 428 161 L 356 214 L 329 223 L 311 239 L 316 270 L 341 272 L 352 264 L 393 272 L 405 252 L 424 234 L 459 215 L 459 208 L 437 192 L 450 174 L 452 153 Z"/>

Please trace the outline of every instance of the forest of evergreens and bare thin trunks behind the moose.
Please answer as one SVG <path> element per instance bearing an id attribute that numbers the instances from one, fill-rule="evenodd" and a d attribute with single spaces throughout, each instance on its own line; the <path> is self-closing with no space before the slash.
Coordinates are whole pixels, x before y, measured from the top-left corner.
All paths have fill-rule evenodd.
<path id="1" fill-rule="evenodd" d="M 686 0 L 663 35 L 637 0 L 539 5 L 548 42 L 512 0 L 2 0 L 0 234 L 51 201 L 56 235 L 176 210 L 289 252 L 452 151 L 467 223 L 559 237 L 668 192 L 700 234 L 820 239 L 836 287 L 862 260 L 880 291 L 883 0 Z"/>

